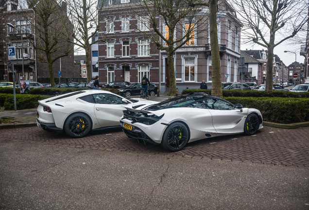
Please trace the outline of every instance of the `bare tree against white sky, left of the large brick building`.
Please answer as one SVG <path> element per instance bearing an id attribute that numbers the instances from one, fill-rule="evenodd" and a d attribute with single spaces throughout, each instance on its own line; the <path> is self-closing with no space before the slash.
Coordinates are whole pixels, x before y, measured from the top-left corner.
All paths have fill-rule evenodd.
<path id="1" fill-rule="evenodd" d="M 91 41 L 99 31 L 100 17 L 108 12 L 106 0 L 65 0 L 68 3 L 69 19 L 74 25 L 73 36 L 70 41 L 86 52 L 87 82 L 91 80 L 90 46 L 97 42 L 105 42 L 106 34 L 99 35 L 97 40 Z"/>

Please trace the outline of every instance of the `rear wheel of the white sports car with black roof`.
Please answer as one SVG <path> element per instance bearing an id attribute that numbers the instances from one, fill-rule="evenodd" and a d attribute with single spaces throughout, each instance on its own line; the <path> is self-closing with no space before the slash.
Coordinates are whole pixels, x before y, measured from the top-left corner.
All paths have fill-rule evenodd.
<path id="1" fill-rule="evenodd" d="M 189 141 L 189 130 L 184 123 L 176 122 L 170 124 L 161 141 L 161 146 L 172 152 L 176 152 L 184 148 Z"/>

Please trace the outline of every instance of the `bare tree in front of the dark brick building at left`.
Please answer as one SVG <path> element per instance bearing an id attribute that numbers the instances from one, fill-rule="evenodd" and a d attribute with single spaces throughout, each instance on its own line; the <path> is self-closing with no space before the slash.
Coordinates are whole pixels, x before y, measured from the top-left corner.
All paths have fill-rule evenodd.
<path id="1" fill-rule="evenodd" d="M 39 61 L 48 64 L 51 86 L 54 86 L 52 64 L 73 50 L 73 45 L 67 42 L 64 27 L 70 25 L 69 19 L 55 0 L 29 0 L 29 4 L 35 13 L 33 27 L 36 37 L 32 44 Z"/>

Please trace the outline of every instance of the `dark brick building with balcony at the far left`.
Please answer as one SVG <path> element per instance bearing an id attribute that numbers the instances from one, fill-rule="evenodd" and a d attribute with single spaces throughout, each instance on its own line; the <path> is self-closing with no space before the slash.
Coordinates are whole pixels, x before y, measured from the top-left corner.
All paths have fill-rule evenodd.
<path id="1" fill-rule="evenodd" d="M 39 36 L 35 34 L 37 32 L 34 29 L 34 10 L 28 5 L 27 0 L 4 0 L 1 3 L 0 15 L 3 18 L 0 24 L 4 36 L 1 37 L 3 38 L 1 39 L 3 40 L 3 48 L 0 43 L 2 50 L 2 53 L 0 51 L 0 80 L 13 80 L 12 61 L 8 60 L 7 56 L 7 47 L 9 46 L 16 47 L 17 59 L 14 61 L 14 69 L 17 82 L 22 78 L 30 81 L 37 81 L 39 78 L 49 78 L 48 64 L 41 62 L 37 58 L 37 55 L 42 54 L 42 52 L 34 49 L 34 43 L 41 42 L 38 38 Z M 66 9 L 66 4 L 62 3 L 59 5 L 59 11 L 62 11 L 62 13 L 58 14 L 67 16 Z M 10 24 L 13 27 L 10 27 Z M 68 25 L 72 24 L 68 22 Z M 66 42 L 66 39 L 63 42 Z M 57 53 L 55 53 L 56 55 Z M 62 77 L 79 77 L 78 69 L 74 66 L 73 52 L 53 63 L 54 77 L 58 77 L 58 71 L 61 71 Z"/>

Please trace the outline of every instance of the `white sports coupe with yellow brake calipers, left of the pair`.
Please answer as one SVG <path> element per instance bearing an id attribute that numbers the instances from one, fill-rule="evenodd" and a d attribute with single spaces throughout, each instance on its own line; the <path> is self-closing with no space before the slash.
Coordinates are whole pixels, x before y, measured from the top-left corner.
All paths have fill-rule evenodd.
<path id="1" fill-rule="evenodd" d="M 69 102 L 69 103 L 68 103 Z M 145 99 L 125 99 L 105 90 L 80 90 L 38 101 L 37 126 L 70 137 L 85 137 L 91 130 L 120 126 L 125 108 L 151 105 Z"/>

